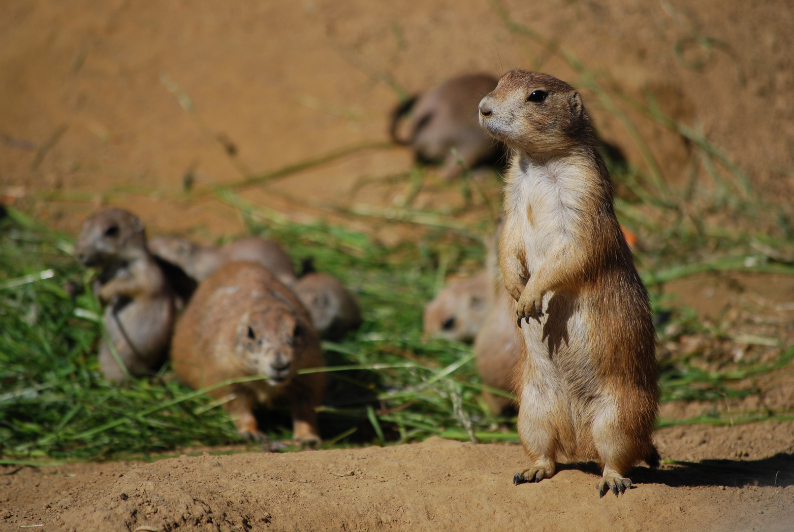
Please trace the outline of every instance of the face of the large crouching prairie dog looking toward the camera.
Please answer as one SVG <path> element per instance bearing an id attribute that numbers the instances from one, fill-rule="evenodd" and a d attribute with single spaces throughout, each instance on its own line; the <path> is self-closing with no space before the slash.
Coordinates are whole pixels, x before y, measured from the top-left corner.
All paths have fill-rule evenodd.
<path id="1" fill-rule="evenodd" d="M 287 384 L 301 366 L 310 334 L 314 331 L 283 307 L 252 310 L 237 327 L 237 355 L 250 372 L 268 376 L 271 386 Z"/>

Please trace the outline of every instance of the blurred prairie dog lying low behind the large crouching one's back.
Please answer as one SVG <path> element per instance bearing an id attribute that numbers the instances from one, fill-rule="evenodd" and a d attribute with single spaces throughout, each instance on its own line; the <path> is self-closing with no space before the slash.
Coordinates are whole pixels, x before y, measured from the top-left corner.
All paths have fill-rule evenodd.
<path id="1" fill-rule="evenodd" d="M 275 242 L 264 238 L 245 237 L 215 248 L 179 237 L 154 237 L 148 248 L 153 255 L 179 266 L 198 282 L 211 276 L 222 264 L 240 260 L 261 264 L 287 286 L 296 279 L 291 258 Z"/>

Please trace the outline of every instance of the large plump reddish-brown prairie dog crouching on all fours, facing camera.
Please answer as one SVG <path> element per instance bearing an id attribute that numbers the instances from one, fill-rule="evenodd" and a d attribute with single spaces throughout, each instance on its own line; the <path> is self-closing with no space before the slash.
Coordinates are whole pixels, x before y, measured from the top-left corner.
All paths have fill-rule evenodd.
<path id="1" fill-rule="evenodd" d="M 306 309 L 275 276 L 254 262 L 229 262 L 207 277 L 176 324 L 171 359 L 184 384 L 198 389 L 227 379 L 266 376 L 210 391 L 240 434 L 264 440 L 252 413 L 259 403 L 289 399 L 294 438 L 319 442 L 314 407 L 322 401 L 320 341 Z"/>

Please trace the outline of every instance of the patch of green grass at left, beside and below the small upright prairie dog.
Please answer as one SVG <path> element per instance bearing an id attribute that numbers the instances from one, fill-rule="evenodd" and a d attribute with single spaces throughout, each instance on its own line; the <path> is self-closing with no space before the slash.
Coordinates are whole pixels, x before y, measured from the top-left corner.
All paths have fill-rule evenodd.
<path id="1" fill-rule="evenodd" d="M 193 413 L 204 397 L 161 378 L 117 386 L 98 371 L 100 314 L 90 291 L 76 298 L 64 290 L 84 285 L 83 268 L 70 245 L 10 211 L 0 220 L 0 455 L 4 457 L 104 458 L 160 453 L 202 441 L 237 438 L 219 409 Z M 13 288 L 18 279 L 52 268 L 55 276 Z M 156 410 L 152 410 L 156 409 Z M 113 420 L 124 422 L 97 430 Z"/>

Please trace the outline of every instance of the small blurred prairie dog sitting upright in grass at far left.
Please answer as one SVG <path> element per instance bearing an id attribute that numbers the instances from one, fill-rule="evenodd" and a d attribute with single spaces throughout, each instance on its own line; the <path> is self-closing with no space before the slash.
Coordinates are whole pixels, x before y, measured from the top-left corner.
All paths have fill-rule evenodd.
<path id="1" fill-rule="evenodd" d="M 146 248 L 144 225 L 122 209 L 106 209 L 83 223 L 75 256 L 96 266 L 98 298 L 107 303 L 102 322 L 130 375 L 142 376 L 162 363 L 174 326 L 174 301 L 163 272 Z M 122 380 L 122 369 L 107 341 L 99 365 L 108 380 Z"/>

